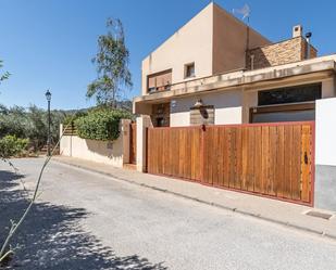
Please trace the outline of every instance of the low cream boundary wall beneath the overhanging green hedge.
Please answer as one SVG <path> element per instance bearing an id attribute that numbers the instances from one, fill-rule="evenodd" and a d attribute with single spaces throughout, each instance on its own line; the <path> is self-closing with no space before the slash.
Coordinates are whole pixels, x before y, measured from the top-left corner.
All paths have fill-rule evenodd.
<path id="1" fill-rule="evenodd" d="M 63 136 L 60 154 L 123 167 L 123 137 L 113 142 L 80 139 L 77 136 Z"/>

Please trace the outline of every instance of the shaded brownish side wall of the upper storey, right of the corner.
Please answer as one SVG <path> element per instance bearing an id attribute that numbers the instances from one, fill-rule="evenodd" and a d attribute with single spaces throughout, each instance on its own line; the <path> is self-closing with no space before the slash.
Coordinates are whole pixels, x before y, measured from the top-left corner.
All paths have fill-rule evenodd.
<path id="1" fill-rule="evenodd" d="M 247 26 L 219 5 L 213 8 L 213 74 L 244 68 Z M 249 48 L 269 43 L 265 37 L 250 28 Z"/>

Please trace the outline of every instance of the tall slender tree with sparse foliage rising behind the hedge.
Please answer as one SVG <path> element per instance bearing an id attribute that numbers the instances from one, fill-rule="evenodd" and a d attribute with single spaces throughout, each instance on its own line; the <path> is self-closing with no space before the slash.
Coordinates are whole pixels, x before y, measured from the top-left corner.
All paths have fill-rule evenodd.
<path id="1" fill-rule="evenodd" d="M 108 18 L 107 28 L 107 35 L 98 37 L 98 52 L 92 59 L 98 77 L 88 86 L 86 97 L 96 97 L 98 105 L 116 107 L 121 94 L 133 86 L 128 69 L 129 52 L 122 22 Z"/>

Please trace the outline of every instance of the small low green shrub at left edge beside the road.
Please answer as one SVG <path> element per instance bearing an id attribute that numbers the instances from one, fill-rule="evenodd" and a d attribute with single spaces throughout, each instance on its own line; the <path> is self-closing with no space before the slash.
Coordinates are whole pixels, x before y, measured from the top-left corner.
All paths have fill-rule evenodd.
<path id="1" fill-rule="evenodd" d="M 0 156 L 8 158 L 12 156 L 22 156 L 29 144 L 28 139 L 20 139 L 16 136 L 5 136 L 0 139 Z"/>

